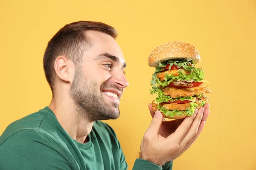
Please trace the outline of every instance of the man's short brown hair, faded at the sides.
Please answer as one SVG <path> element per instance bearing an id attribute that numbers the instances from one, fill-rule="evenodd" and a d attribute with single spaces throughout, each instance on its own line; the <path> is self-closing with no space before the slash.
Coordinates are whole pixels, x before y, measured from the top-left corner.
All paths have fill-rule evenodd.
<path id="1" fill-rule="evenodd" d="M 90 39 L 85 34 L 87 30 L 101 31 L 114 39 L 117 37 L 115 28 L 100 22 L 79 21 L 61 28 L 48 42 L 44 53 L 44 73 L 52 94 L 56 77 L 55 59 L 58 56 L 65 56 L 78 65 L 83 59 L 84 51 L 91 46 Z"/>

